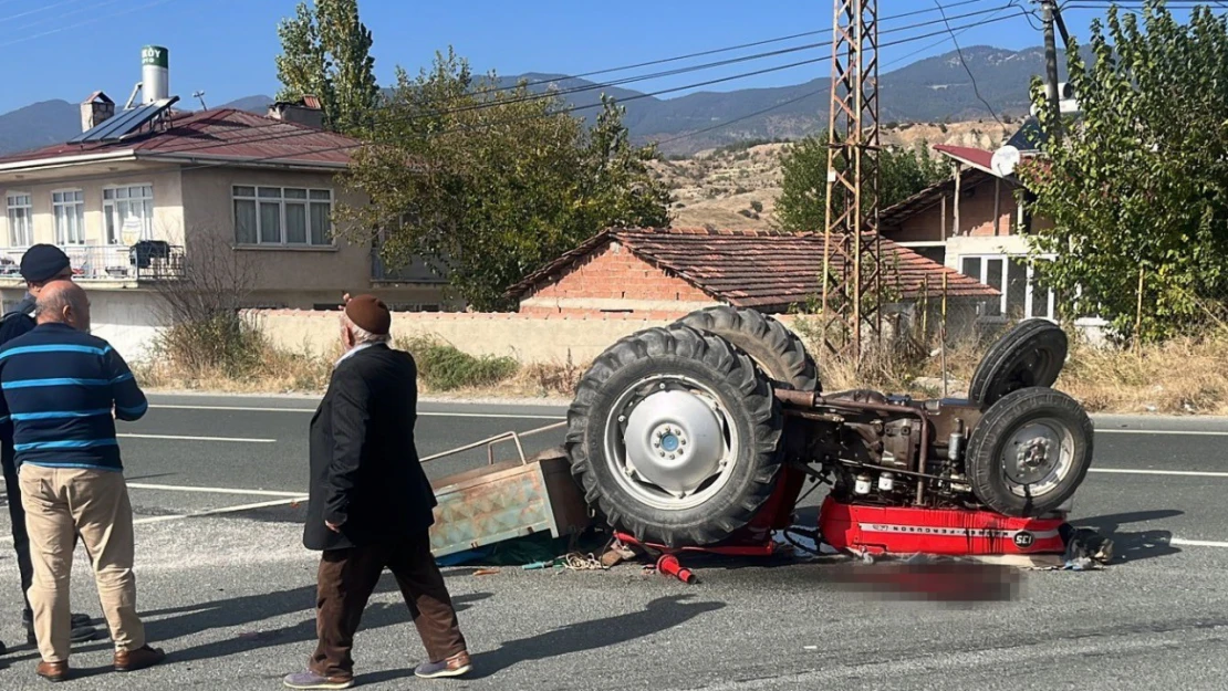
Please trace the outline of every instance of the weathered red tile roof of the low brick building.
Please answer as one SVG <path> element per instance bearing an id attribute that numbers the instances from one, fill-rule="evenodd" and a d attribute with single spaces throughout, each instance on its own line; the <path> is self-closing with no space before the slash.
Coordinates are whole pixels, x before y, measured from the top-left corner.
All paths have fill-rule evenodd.
<path id="1" fill-rule="evenodd" d="M 640 259 L 686 280 L 717 299 L 760 311 L 783 311 L 820 295 L 824 238 L 819 233 L 707 231 L 702 228 L 610 228 L 565 253 L 508 290 L 523 297 L 609 242 L 623 243 Z M 882 238 L 883 286 L 904 299 L 921 297 L 928 279 L 938 295 L 943 275 L 949 297 L 987 298 L 996 290 Z M 833 257 L 831 270 L 841 263 Z"/>

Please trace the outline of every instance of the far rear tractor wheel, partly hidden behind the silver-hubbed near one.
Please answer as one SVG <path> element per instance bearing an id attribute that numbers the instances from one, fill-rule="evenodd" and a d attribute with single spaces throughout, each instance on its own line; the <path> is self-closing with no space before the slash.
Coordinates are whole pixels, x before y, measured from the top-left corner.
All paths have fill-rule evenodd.
<path id="1" fill-rule="evenodd" d="M 761 312 L 721 304 L 691 312 L 679 323 L 721 336 L 743 350 L 776 385 L 822 392 L 818 366 L 802 339 Z"/>

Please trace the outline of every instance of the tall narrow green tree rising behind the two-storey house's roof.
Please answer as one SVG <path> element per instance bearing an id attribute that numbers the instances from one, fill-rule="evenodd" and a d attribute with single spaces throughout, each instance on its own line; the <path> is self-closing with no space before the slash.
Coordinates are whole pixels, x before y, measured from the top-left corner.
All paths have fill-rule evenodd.
<path id="1" fill-rule="evenodd" d="M 282 20 L 278 36 L 282 52 L 275 58 L 282 85 L 278 99 L 314 95 L 323 106 L 325 128 L 367 131 L 379 86 L 371 31 L 359 20 L 357 0 L 317 0 L 314 10 L 300 2 L 295 16 Z"/>

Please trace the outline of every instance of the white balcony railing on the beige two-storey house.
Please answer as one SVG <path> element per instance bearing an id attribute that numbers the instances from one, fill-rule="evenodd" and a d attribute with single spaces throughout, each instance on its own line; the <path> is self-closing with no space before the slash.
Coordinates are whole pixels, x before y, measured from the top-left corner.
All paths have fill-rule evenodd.
<path id="1" fill-rule="evenodd" d="M 161 241 L 126 245 L 61 247 L 77 281 L 167 281 L 183 277 L 183 247 Z M 21 280 L 26 248 L 0 249 L 0 280 Z"/>

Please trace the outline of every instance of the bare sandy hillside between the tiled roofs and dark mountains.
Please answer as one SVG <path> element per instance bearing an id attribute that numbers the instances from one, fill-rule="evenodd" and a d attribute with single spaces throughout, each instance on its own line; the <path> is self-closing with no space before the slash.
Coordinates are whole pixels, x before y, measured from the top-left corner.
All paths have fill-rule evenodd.
<path id="1" fill-rule="evenodd" d="M 996 149 L 1014 126 L 1002 128 L 993 120 L 905 124 L 885 129 L 883 142 L 909 147 L 954 144 Z M 655 162 L 653 174 L 673 190 L 674 203 L 669 210 L 673 225 L 712 225 L 729 230 L 775 227 L 776 196 L 781 193 L 780 156 L 790 146 L 733 145 L 688 158 Z"/>

